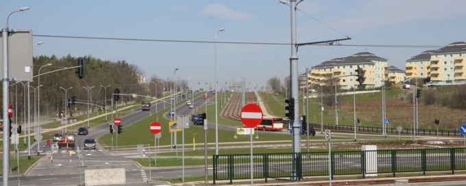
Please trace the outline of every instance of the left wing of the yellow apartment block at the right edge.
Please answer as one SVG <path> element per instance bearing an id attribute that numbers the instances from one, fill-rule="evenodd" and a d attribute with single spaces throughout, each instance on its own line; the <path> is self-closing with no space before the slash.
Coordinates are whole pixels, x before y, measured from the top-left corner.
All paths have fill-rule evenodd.
<path id="1" fill-rule="evenodd" d="M 434 50 L 424 51 L 406 60 L 406 78 L 430 77 L 430 54 Z"/>

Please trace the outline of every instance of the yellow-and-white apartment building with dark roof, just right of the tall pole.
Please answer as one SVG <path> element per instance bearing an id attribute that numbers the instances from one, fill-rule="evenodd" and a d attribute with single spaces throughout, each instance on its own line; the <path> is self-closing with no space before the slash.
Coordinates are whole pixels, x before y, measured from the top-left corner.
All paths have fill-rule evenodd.
<path id="1" fill-rule="evenodd" d="M 363 68 L 365 81 L 363 85 L 355 82 L 357 77 L 347 76 L 355 75 L 355 70 Z M 378 57 L 373 53 L 362 52 L 347 57 L 339 57 L 313 66 L 308 74 L 309 83 L 326 85 L 326 79 L 338 78 L 339 85 L 342 89 L 348 90 L 353 88 L 377 88 L 382 86 L 382 80 L 389 79 L 389 64 L 387 59 Z M 323 81 L 323 82 L 322 82 Z"/>

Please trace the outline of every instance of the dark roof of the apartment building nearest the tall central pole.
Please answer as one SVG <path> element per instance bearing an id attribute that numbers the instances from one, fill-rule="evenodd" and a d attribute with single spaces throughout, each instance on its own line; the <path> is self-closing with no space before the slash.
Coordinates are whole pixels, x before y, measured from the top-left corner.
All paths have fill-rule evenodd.
<path id="1" fill-rule="evenodd" d="M 312 68 L 322 68 L 326 66 L 341 66 L 341 65 L 349 65 L 349 64 L 374 64 L 371 60 L 382 60 L 387 61 L 382 57 L 378 57 L 373 53 L 368 52 L 361 52 L 356 53 L 354 55 L 349 55 L 348 57 L 339 57 L 331 59 L 330 61 L 322 62 L 316 66 L 312 66 Z"/>

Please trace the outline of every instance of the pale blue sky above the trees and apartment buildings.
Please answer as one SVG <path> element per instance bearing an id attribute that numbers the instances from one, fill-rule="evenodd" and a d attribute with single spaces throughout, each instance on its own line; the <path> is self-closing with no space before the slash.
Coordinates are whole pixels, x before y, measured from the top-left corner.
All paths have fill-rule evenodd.
<path id="1" fill-rule="evenodd" d="M 32 29 L 34 44 L 45 42 L 34 56 L 125 60 L 147 79 L 185 78 L 193 86 L 212 83 L 215 72 L 219 85 L 245 78 L 251 88 L 290 73 L 291 9 L 278 0 L 17 0 L 2 3 L 0 20 L 23 7 L 30 9 L 12 14 L 8 25 Z M 299 47 L 298 72 L 360 52 L 404 70 L 423 51 L 466 42 L 465 7 L 463 0 L 302 1 L 298 43 L 352 39 Z"/>

